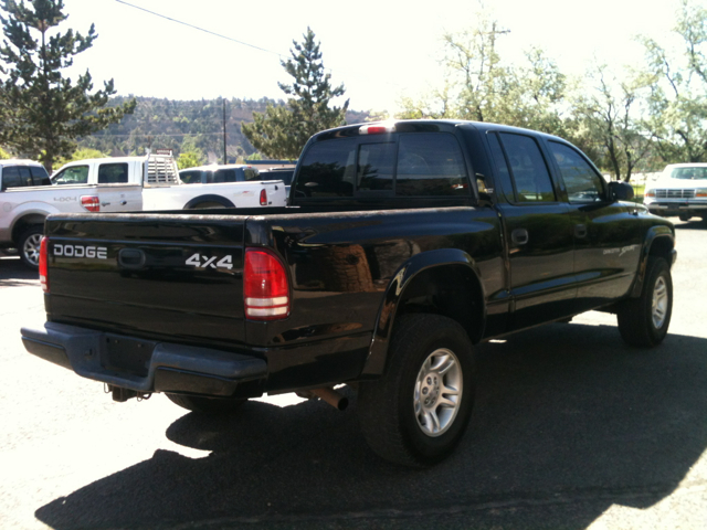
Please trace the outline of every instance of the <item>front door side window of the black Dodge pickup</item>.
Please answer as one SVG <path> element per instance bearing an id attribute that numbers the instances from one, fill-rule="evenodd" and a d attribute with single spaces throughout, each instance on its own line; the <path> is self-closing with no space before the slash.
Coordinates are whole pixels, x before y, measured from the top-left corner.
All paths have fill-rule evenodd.
<path id="1" fill-rule="evenodd" d="M 550 151 L 560 168 L 560 174 L 567 187 L 571 203 L 601 202 L 604 193 L 604 179 L 574 149 L 557 141 L 549 141 Z"/>

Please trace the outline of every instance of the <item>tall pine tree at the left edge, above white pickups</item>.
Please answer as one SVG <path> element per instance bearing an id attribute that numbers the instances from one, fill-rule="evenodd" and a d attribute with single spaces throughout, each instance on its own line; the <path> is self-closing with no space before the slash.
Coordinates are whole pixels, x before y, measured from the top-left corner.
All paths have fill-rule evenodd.
<path id="1" fill-rule="evenodd" d="M 133 113 L 135 100 L 106 107 L 116 92 L 113 80 L 92 93 L 88 71 L 75 83 L 64 77 L 74 55 L 91 47 L 97 35 L 93 24 L 86 35 L 55 30 L 67 18 L 62 0 L 3 0 L 2 9 L 0 105 L 7 116 L 0 145 L 39 159 L 51 171 L 60 157 L 71 156 L 76 138 L 120 121 Z"/>

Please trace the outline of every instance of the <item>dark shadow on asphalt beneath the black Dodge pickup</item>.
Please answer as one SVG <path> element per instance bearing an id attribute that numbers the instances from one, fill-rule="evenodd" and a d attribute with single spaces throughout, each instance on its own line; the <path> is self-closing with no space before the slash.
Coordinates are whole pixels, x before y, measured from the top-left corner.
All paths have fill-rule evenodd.
<path id="1" fill-rule="evenodd" d="M 39 508 L 70 528 L 587 528 L 668 496 L 707 447 L 707 340 L 624 347 L 615 327 L 551 325 L 478 348 L 456 453 L 423 470 L 378 459 L 356 404 L 251 402 L 186 414 L 152 458 Z M 180 524 L 178 524 L 180 523 Z"/>

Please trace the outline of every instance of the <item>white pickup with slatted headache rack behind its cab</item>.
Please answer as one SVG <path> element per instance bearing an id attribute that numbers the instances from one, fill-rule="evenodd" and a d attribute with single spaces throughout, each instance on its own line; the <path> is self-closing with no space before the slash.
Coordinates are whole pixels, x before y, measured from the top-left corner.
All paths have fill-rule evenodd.
<path id="1" fill-rule="evenodd" d="M 171 156 L 94 158 L 67 163 L 53 184 L 133 183 L 143 187 L 143 210 L 284 206 L 282 182 L 250 181 L 184 186 Z"/>

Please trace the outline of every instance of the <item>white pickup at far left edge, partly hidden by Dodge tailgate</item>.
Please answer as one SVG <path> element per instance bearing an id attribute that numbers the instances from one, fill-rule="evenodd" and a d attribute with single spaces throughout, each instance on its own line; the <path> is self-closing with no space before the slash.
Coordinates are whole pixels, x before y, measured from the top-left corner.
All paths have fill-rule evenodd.
<path id="1" fill-rule="evenodd" d="M 139 184 L 49 186 L 32 160 L 0 160 L 0 248 L 18 248 L 22 262 L 39 266 L 44 220 L 51 213 L 123 212 L 143 209 Z"/>

